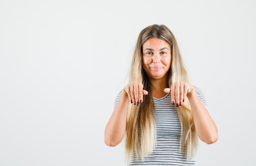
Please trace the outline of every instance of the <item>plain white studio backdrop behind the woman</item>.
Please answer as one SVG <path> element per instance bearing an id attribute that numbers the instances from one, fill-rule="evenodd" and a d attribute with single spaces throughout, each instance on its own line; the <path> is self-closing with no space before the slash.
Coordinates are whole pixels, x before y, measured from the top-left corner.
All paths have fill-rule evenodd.
<path id="1" fill-rule="evenodd" d="M 0 166 L 124 165 L 104 130 L 139 32 L 164 24 L 218 141 L 198 166 L 256 165 L 253 0 L 0 0 Z"/>

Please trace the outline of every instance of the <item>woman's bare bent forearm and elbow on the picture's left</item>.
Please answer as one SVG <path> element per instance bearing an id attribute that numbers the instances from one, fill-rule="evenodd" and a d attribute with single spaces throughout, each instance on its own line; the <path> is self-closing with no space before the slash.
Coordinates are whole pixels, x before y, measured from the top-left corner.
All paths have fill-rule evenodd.
<path id="1" fill-rule="evenodd" d="M 126 130 L 128 104 L 129 97 L 124 93 L 123 90 L 120 100 L 117 103 L 117 106 L 114 109 L 105 128 L 104 142 L 106 145 L 117 146 L 123 140 Z"/>

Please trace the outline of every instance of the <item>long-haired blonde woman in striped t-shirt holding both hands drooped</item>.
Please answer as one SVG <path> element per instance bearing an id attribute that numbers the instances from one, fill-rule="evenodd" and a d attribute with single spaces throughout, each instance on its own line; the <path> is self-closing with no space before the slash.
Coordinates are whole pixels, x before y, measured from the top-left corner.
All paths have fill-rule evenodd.
<path id="1" fill-rule="evenodd" d="M 140 32 L 129 82 L 117 95 L 105 129 L 108 146 L 126 136 L 128 165 L 194 165 L 198 137 L 207 144 L 217 141 L 204 95 L 189 83 L 166 26 L 154 24 Z"/>

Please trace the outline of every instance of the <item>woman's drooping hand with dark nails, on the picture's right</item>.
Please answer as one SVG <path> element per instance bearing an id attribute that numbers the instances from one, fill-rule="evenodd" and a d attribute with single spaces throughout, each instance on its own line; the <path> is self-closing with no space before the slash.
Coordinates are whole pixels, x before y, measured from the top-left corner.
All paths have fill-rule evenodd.
<path id="1" fill-rule="evenodd" d="M 184 102 L 187 95 L 193 92 L 194 86 L 186 82 L 174 82 L 171 84 L 171 88 L 165 88 L 164 92 L 171 93 L 172 104 L 177 107 Z"/>

